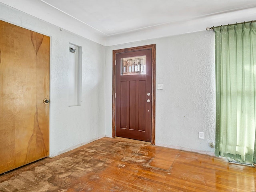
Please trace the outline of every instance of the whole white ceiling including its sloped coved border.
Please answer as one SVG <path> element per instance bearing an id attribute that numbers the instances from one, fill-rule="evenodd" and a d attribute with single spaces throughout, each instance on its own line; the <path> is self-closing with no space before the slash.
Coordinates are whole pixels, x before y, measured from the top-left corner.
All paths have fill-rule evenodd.
<path id="1" fill-rule="evenodd" d="M 105 46 L 204 30 L 206 26 L 256 20 L 256 0 L 0 2 Z"/>

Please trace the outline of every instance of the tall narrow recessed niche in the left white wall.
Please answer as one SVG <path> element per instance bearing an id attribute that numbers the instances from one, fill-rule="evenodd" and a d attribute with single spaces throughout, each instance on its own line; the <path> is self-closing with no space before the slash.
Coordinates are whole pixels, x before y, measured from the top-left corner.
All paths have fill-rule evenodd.
<path id="1" fill-rule="evenodd" d="M 82 47 L 70 43 L 68 48 L 68 106 L 82 104 Z"/>

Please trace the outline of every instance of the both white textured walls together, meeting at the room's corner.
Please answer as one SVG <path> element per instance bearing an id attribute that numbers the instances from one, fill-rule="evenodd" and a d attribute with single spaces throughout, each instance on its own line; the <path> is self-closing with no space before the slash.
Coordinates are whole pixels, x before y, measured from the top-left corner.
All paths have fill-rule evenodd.
<path id="1" fill-rule="evenodd" d="M 156 44 L 156 83 L 164 84 L 156 90 L 156 145 L 213 152 L 208 146 L 215 140 L 212 31 L 105 48 L 1 3 L 0 19 L 51 37 L 50 156 L 112 136 L 112 50 L 146 44 Z M 68 107 L 69 43 L 83 47 L 82 106 Z"/>

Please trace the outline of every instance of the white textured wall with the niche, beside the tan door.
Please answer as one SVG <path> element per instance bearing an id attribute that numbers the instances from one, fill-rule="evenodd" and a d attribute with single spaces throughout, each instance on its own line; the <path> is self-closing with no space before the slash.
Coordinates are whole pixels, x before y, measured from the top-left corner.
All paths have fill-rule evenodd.
<path id="1" fill-rule="evenodd" d="M 105 47 L 2 3 L 0 20 L 51 37 L 50 156 L 104 137 Z M 82 106 L 68 107 L 69 43 L 82 46 Z"/>

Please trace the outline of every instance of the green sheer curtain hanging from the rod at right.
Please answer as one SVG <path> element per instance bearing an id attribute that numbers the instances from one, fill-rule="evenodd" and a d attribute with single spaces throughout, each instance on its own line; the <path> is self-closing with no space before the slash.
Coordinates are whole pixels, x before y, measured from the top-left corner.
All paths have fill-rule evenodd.
<path id="1" fill-rule="evenodd" d="M 216 156 L 256 162 L 256 23 L 215 28 Z"/>

